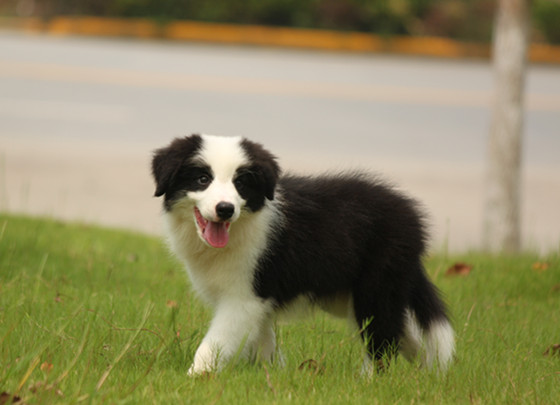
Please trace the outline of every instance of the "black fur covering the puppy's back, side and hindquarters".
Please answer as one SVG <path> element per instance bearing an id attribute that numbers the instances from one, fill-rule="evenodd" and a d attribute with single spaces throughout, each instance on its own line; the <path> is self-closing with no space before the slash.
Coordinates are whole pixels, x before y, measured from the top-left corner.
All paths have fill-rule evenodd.
<path id="1" fill-rule="evenodd" d="M 350 293 L 375 356 L 398 342 L 407 308 L 425 328 L 446 317 L 421 262 L 426 231 L 415 201 L 363 174 L 285 176 L 278 191 L 282 224 L 256 271 L 257 295 L 282 307 Z"/>

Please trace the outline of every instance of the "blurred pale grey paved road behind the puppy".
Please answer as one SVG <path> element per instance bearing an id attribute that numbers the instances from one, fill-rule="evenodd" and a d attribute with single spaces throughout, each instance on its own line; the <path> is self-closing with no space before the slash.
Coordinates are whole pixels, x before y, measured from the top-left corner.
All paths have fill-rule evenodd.
<path id="1" fill-rule="evenodd" d="M 159 232 L 151 151 L 242 134 L 285 169 L 364 168 L 478 247 L 487 62 L 0 32 L 0 209 Z M 560 241 L 560 68 L 531 67 L 524 240 Z"/>

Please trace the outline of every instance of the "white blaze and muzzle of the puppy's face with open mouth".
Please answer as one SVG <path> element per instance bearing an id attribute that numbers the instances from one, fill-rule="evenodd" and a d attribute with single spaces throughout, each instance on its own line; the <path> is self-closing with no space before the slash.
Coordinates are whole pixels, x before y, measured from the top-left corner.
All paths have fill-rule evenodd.
<path id="1" fill-rule="evenodd" d="M 240 145 L 241 137 L 202 135 L 202 139 L 200 161 L 210 167 L 213 178 L 208 188 L 188 195 L 195 201 L 193 215 L 200 237 L 212 247 L 225 247 L 230 225 L 239 218 L 245 203 L 233 184 L 234 176 L 237 169 L 248 162 Z M 216 206 L 224 202 L 234 207 L 227 222 L 221 221 L 216 213 Z"/>

